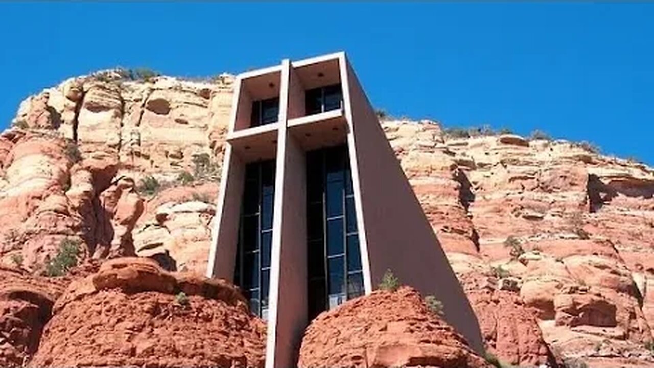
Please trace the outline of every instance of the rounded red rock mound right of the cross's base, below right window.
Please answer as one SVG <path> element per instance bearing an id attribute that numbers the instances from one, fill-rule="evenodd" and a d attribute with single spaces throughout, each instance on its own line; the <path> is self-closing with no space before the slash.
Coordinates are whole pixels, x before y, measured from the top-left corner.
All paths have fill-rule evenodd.
<path id="1" fill-rule="evenodd" d="M 375 291 L 320 314 L 300 367 L 492 367 L 410 287 Z"/>

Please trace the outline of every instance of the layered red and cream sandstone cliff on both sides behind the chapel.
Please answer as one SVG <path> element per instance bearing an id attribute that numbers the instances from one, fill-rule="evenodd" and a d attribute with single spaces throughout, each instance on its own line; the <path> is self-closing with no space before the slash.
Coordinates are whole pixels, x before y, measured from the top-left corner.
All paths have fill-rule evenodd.
<path id="1" fill-rule="evenodd" d="M 105 71 L 24 101 L 0 134 L 0 263 L 39 272 L 73 238 L 80 258 L 204 272 L 231 83 Z M 652 168 L 583 143 L 383 127 L 490 352 L 654 365 Z M 162 188 L 143 191 L 148 175 Z"/>

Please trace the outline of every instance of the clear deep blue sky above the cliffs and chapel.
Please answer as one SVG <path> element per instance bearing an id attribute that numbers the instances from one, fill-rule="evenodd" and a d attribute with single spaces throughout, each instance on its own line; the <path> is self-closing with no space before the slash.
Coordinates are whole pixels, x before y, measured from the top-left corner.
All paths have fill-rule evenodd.
<path id="1" fill-rule="evenodd" d="M 27 95 L 97 69 L 196 77 L 345 50 L 391 115 L 654 164 L 654 3 L 0 2 L 0 35 L 0 128 Z"/>

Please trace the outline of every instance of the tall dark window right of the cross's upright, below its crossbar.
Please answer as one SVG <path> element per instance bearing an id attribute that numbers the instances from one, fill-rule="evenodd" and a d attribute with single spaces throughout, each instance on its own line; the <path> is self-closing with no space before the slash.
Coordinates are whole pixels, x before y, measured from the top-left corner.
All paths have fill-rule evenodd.
<path id="1" fill-rule="evenodd" d="M 309 317 L 364 293 L 347 146 L 307 153 Z"/>

